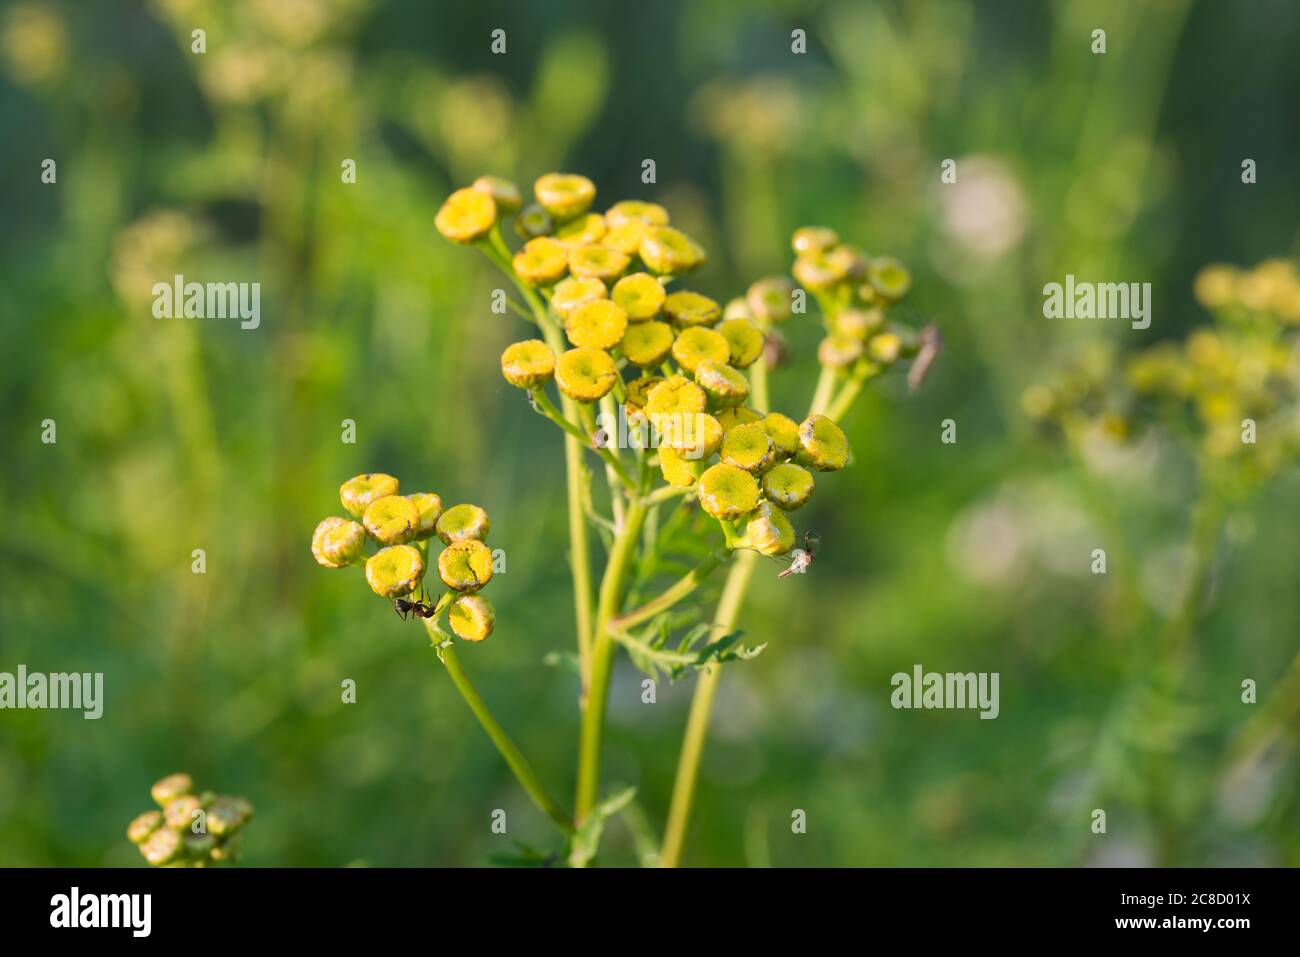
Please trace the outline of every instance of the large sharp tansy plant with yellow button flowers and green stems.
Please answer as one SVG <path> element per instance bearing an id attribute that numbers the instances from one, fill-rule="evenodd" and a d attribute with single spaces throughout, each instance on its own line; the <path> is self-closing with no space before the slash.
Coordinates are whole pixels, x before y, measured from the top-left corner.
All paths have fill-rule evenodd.
<path id="1" fill-rule="evenodd" d="M 594 212 L 595 186 L 568 173 L 541 177 L 533 195 L 525 205 L 514 183 L 481 177 L 447 198 L 436 225 L 447 239 L 485 254 L 512 283 L 517 298 L 508 303 L 536 335 L 506 348 L 502 374 L 564 437 L 577 632 L 572 664 L 582 713 L 572 817 L 546 796 L 473 692 L 451 642 L 439 637 L 437 644 L 516 776 L 564 831 L 564 854 L 578 866 L 594 858 L 603 822 L 632 797 L 624 791 L 598 801 L 618 648 L 653 677 L 699 672 L 662 850 L 653 849 L 647 826 L 638 836 L 644 862 L 676 865 L 722 666 L 763 649 L 740 644 L 734 631 L 757 560 L 786 557 L 806 566 L 807 555 L 796 551 L 792 515 L 814 494 L 819 473 L 852 463 L 838 421 L 866 382 L 902 360 L 915 360 L 911 378 L 919 382 L 937 335 L 894 320 L 893 307 L 910 285 L 901 263 L 842 244 L 829 229 L 794 234 L 800 285 L 760 280 L 723 306 L 675 287 L 705 264 L 706 252 L 662 205 L 624 200 Z M 515 248 L 504 238 L 507 218 L 520 239 Z M 811 407 L 790 416 L 770 408 L 767 373 L 786 352 L 777 328 L 806 311 L 809 294 L 826 325 L 822 374 Z M 589 462 L 603 472 L 606 492 L 593 489 Z M 326 519 L 313 551 L 329 567 L 364 566 L 372 589 L 385 598 L 419 588 L 421 542 L 430 532 L 448 550 L 481 544 L 482 534 L 442 536 L 442 520 L 417 518 L 424 507 L 407 505 L 389 476 L 354 478 L 343 498 L 360 523 Z M 593 537 L 604 551 L 598 584 Z M 370 557 L 364 555 L 367 538 L 382 546 Z M 456 635 L 486 637 L 490 606 L 477 589 L 488 575 L 448 576 L 442 566 L 439 558 L 450 590 L 425 605 L 425 625 L 442 636 L 437 619 L 450 607 Z M 720 566 L 728 567 L 727 583 L 716 611 L 706 616 L 693 601 Z M 455 618 L 458 605 L 467 603 L 474 610 L 469 635 Z"/>

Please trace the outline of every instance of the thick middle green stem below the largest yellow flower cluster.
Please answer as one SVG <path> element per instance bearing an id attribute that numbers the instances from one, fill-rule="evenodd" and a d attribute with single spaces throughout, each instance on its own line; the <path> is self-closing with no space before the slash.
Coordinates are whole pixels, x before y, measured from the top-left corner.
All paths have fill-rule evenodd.
<path id="1" fill-rule="evenodd" d="M 624 523 L 614 540 L 610 562 L 601 579 L 601 599 L 595 611 L 595 636 L 592 644 L 592 680 L 588 685 L 586 707 L 582 710 L 582 731 L 577 765 L 577 801 L 575 820 L 581 824 L 595 806 L 601 783 L 601 742 L 604 736 L 604 711 L 610 698 L 610 677 L 614 674 L 614 636 L 610 623 L 619 612 L 628 568 L 641 537 L 646 507 L 638 498 L 628 503 Z"/>

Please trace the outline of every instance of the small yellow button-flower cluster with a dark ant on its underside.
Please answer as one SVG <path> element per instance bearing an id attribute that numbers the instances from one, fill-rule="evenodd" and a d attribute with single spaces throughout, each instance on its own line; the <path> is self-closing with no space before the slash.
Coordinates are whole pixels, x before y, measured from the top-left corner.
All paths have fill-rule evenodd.
<path id="1" fill-rule="evenodd" d="M 339 499 L 352 518 L 330 516 L 312 534 L 312 555 L 326 568 L 364 568 L 374 594 L 394 601 L 399 612 L 415 611 L 434 618 L 447 610 L 452 631 L 465 641 L 491 635 L 495 614 L 491 602 L 478 594 L 493 576 L 493 554 L 486 545 L 488 512 L 476 505 L 443 510 L 432 492 L 398 494 L 398 480 L 384 472 L 348 478 Z M 437 605 L 404 601 L 422 592 L 429 541 L 445 545 L 438 555 L 438 577 L 448 593 Z M 377 550 L 367 555 L 367 542 Z M 428 612 L 428 614 L 424 614 Z"/>

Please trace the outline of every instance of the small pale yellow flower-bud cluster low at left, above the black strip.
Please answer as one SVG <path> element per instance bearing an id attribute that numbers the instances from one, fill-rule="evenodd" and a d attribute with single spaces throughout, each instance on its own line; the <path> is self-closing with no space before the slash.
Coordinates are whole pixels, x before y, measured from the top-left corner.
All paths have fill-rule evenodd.
<path id="1" fill-rule="evenodd" d="M 131 844 L 155 867 L 234 863 L 239 835 L 252 820 L 242 797 L 196 792 L 187 774 L 172 774 L 150 791 L 161 810 L 144 811 L 126 828 Z"/>

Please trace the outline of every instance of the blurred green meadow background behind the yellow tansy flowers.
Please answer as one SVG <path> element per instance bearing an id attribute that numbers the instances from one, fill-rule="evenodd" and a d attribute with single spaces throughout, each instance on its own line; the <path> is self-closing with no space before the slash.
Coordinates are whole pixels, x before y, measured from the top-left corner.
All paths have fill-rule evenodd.
<path id="1" fill-rule="evenodd" d="M 716 298 L 835 226 L 907 261 L 945 337 L 920 393 L 854 410 L 855 467 L 801 514 L 814 570 L 753 589 L 770 645 L 724 677 L 686 862 L 1300 863 L 1296 475 L 1232 510 L 1195 664 L 1158 693 L 1187 463 L 1097 467 L 1019 404 L 1089 339 L 1205 322 L 1206 261 L 1295 255 L 1297 33 L 1286 0 L 6 4 L 0 671 L 103 671 L 107 702 L 0 713 L 0 865 L 140 863 L 125 827 L 176 770 L 254 801 L 250 865 L 486 863 L 497 807 L 552 845 L 420 629 L 308 551 L 358 472 L 485 506 L 508 572 L 462 658 L 568 804 L 576 685 L 543 664 L 572 648 L 563 452 L 499 376 L 528 332 L 490 312 L 499 280 L 433 230 L 477 174 L 550 169 L 668 205 Z M 260 282 L 261 328 L 153 319 L 176 272 Z M 1044 320 L 1067 272 L 1152 282 L 1152 328 Z M 785 332 L 793 410 L 819 329 Z M 916 663 L 1000 672 L 1000 718 L 894 711 Z M 690 688 L 646 706 L 615 676 L 606 780 L 656 828 Z M 633 862 L 621 822 L 602 859 Z"/>

